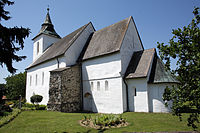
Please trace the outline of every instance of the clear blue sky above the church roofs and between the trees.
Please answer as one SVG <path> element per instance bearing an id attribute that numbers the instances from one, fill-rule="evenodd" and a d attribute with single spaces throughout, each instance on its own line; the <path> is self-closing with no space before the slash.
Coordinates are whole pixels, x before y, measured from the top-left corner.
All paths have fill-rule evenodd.
<path id="1" fill-rule="evenodd" d="M 12 18 L 1 23 L 31 29 L 24 49 L 17 53 L 27 58 L 13 63 L 17 73 L 24 72 L 32 62 L 31 39 L 39 32 L 48 5 L 52 23 L 61 37 L 90 21 L 99 30 L 133 16 L 144 48 L 149 49 L 156 48 L 157 42 L 167 43 L 172 29 L 188 25 L 194 7 L 200 7 L 200 0 L 16 0 L 14 5 L 5 8 Z M 8 75 L 6 66 L 0 67 L 0 83 L 5 83 Z"/>

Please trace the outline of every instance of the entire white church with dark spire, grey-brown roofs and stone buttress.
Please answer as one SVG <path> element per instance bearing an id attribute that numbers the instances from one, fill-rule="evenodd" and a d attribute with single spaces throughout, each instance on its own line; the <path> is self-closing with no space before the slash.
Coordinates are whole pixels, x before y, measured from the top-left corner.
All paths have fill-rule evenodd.
<path id="1" fill-rule="evenodd" d="M 177 80 L 164 69 L 156 49 L 145 50 L 132 17 L 96 31 L 91 22 L 61 38 L 49 9 L 33 38 L 26 100 L 62 112 L 169 112 L 162 100 Z"/>

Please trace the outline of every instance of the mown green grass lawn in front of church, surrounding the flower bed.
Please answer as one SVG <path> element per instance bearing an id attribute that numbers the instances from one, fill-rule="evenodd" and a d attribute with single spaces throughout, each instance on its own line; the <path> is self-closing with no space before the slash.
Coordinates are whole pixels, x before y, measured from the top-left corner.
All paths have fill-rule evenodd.
<path id="1" fill-rule="evenodd" d="M 51 111 L 23 111 L 9 124 L 0 128 L 0 133 L 95 133 L 100 130 L 81 127 L 78 123 L 86 113 L 61 113 Z M 167 113 L 133 113 L 123 116 L 130 123 L 127 127 L 107 129 L 104 132 L 158 132 L 192 131 L 187 127 L 186 118 L 179 119 Z M 200 124 L 198 125 L 200 126 Z"/>

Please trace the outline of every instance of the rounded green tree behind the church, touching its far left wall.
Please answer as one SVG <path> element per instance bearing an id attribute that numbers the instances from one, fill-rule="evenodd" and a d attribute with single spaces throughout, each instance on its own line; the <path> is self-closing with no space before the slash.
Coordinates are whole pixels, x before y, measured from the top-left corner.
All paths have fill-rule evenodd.
<path id="1" fill-rule="evenodd" d="M 25 98 L 26 72 L 8 76 L 5 80 L 7 98 L 17 100 L 20 95 Z"/>

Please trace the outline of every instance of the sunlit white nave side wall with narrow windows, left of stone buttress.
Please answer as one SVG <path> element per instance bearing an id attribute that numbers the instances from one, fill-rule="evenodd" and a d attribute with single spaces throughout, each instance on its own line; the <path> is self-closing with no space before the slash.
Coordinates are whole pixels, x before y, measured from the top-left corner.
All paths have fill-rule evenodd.
<path id="1" fill-rule="evenodd" d="M 58 65 L 59 61 L 59 65 Z M 47 104 L 49 100 L 49 79 L 50 71 L 65 67 L 65 57 L 50 60 L 46 63 L 40 64 L 33 68 L 27 70 L 26 78 L 26 100 L 30 103 L 30 97 L 35 93 L 43 96 L 43 100 L 40 104 Z M 44 73 L 44 74 L 43 74 Z M 36 75 L 37 75 L 37 84 L 36 84 Z M 43 78 L 44 75 L 44 78 Z M 30 81 L 31 80 L 31 81 Z"/>

